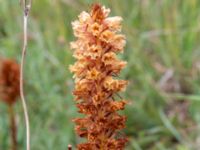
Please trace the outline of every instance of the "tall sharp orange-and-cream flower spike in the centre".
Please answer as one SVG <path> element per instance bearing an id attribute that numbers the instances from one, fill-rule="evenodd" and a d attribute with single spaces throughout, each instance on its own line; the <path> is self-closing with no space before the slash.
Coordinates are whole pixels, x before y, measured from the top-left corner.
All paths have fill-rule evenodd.
<path id="1" fill-rule="evenodd" d="M 70 70 L 74 73 L 79 112 L 84 118 L 74 119 L 76 132 L 87 138 L 79 150 L 123 150 L 127 139 L 119 136 L 126 117 L 119 115 L 125 100 L 116 101 L 114 95 L 124 91 L 125 80 L 115 77 L 126 62 L 117 58 L 123 52 L 125 36 L 121 31 L 121 17 L 108 17 L 109 9 L 95 4 L 90 13 L 82 12 L 72 23 L 77 40 L 71 43 L 77 59 Z"/>

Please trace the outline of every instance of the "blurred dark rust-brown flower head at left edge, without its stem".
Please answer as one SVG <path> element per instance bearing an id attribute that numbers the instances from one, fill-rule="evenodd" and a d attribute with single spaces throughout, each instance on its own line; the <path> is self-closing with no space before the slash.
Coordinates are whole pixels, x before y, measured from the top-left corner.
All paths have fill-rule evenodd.
<path id="1" fill-rule="evenodd" d="M 0 61 L 0 99 L 8 105 L 14 104 L 20 94 L 19 76 L 20 67 L 15 61 Z"/>

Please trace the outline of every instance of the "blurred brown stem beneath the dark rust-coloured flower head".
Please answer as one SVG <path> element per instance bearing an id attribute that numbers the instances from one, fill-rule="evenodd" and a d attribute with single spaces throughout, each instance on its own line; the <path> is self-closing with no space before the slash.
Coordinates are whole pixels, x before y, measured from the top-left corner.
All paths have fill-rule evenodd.
<path id="1" fill-rule="evenodd" d="M 17 126 L 15 121 L 15 113 L 13 105 L 9 105 L 9 117 L 10 117 L 10 135 L 11 135 L 11 150 L 17 150 Z"/>

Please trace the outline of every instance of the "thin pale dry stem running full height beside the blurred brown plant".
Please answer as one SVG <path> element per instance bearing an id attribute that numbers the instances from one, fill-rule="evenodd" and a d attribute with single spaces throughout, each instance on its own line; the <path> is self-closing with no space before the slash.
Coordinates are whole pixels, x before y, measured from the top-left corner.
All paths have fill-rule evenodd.
<path id="1" fill-rule="evenodd" d="M 24 96 L 24 86 L 23 86 L 23 72 L 24 72 L 24 64 L 25 64 L 25 55 L 26 55 L 26 49 L 27 49 L 27 22 L 28 22 L 28 16 L 29 11 L 31 8 L 31 0 L 23 1 L 24 6 L 24 39 L 23 39 L 23 48 L 22 48 L 22 58 L 21 58 L 21 66 L 20 66 L 20 96 L 22 100 L 23 110 L 24 110 L 24 118 L 25 118 L 25 124 L 26 124 L 26 150 L 30 150 L 30 128 L 29 128 L 29 116 L 28 116 L 28 110 L 26 105 L 26 100 Z"/>

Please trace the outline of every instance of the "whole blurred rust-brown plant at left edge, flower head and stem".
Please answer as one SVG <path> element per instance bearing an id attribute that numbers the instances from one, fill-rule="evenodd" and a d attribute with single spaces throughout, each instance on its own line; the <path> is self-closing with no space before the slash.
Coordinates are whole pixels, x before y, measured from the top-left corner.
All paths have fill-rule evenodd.
<path id="1" fill-rule="evenodd" d="M 13 105 L 19 97 L 20 67 L 14 60 L 0 60 L 0 100 L 8 105 L 11 149 L 17 150 L 17 126 Z"/>

